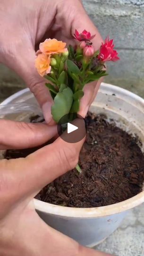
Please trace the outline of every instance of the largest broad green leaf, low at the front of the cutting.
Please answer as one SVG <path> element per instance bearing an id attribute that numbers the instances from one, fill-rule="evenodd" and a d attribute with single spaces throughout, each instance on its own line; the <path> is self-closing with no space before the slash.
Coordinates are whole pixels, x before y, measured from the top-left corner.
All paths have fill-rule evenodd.
<path id="1" fill-rule="evenodd" d="M 51 114 L 56 123 L 69 113 L 73 102 L 73 92 L 69 87 L 62 92 L 58 92 L 54 98 L 54 105 L 51 107 Z"/>

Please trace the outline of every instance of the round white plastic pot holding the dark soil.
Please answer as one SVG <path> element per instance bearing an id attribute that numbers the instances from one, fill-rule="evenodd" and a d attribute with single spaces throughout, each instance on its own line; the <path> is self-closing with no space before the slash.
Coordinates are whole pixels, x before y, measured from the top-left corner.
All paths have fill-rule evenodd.
<path id="1" fill-rule="evenodd" d="M 37 104 L 32 93 L 25 89 L 3 101 L 1 105 L 21 103 Z M 3 113 L 4 107 L 0 107 Z M 38 108 L 37 108 L 38 110 Z M 144 152 L 144 100 L 114 85 L 102 83 L 96 100 L 91 106 L 95 113 L 104 113 L 114 119 L 117 126 L 135 134 L 142 142 Z M 127 211 L 144 202 L 144 191 L 133 198 L 98 208 L 69 208 L 34 199 L 40 217 L 54 229 L 93 247 L 116 230 Z"/>

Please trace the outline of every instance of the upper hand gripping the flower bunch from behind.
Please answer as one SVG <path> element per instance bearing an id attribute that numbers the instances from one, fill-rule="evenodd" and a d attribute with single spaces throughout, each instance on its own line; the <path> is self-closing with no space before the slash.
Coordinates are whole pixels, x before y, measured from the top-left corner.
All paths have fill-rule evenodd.
<path id="1" fill-rule="evenodd" d="M 26 82 L 42 107 L 47 123 L 53 103 L 45 81 L 34 67 L 35 46 L 54 37 L 74 44 L 74 31 L 90 31 L 97 50 L 102 37 L 88 18 L 81 0 L 0 0 L 0 61 L 16 71 Z M 100 86 L 85 86 L 79 114 L 85 117 Z"/>

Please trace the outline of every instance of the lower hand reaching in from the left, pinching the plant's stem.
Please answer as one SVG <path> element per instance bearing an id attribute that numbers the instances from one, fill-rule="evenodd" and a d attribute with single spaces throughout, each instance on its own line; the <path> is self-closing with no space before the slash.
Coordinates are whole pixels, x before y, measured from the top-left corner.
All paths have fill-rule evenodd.
<path id="1" fill-rule="evenodd" d="M 38 146 L 55 131 L 45 124 L 0 120 L 0 148 Z M 26 158 L 0 161 L 0 256 L 106 256 L 49 227 L 31 201 L 47 183 L 76 166 L 82 144 L 58 138 Z"/>

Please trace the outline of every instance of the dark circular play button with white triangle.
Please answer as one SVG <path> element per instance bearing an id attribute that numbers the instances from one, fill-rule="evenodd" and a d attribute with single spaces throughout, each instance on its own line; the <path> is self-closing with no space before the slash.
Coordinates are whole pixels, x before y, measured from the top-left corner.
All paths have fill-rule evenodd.
<path id="1" fill-rule="evenodd" d="M 59 136 L 68 143 L 81 141 L 86 135 L 85 119 L 76 113 L 64 115 L 58 123 Z"/>

